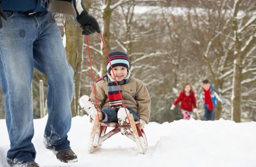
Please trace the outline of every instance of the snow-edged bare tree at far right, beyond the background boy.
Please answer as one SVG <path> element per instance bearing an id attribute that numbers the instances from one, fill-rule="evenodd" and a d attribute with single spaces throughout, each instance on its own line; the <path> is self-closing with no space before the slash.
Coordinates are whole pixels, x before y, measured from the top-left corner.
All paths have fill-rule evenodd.
<path id="1" fill-rule="evenodd" d="M 247 4 L 245 4 L 247 3 Z M 238 15 L 241 5 L 247 6 L 243 10 L 243 15 Z M 232 116 L 235 122 L 241 121 L 241 85 L 245 82 L 256 80 L 256 76 L 243 81 L 243 60 L 249 53 L 255 50 L 256 26 L 255 13 L 251 12 L 254 9 L 255 1 L 236 0 L 232 10 L 233 32 L 232 36 L 234 44 L 234 69 L 233 69 L 233 86 L 232 86 Z M 254 71 L 255 69 L 247 69 L 246 71 Z M 244 73 L 246 73 L 244 71 Z"/>

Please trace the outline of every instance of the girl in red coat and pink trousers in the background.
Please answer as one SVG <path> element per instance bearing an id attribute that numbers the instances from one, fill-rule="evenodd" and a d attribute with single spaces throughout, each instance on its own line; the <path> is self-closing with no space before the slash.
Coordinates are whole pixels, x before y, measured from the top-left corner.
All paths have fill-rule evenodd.
<path id="1" fill-rule="evenodd" d="M 192 105 L 193 111 L 197 113 L 197 104 L 195 94 L 193 92 L 192 86 L 190 84 L 185 84 L 183 90 L 180 93 L 180 96 L 176 99 L 176 101 L 172 104 L 171 110 L 175 108 L 175 106 L 181 101 L 180 110 L 183 114 L 184 120 L 189 120 L 192 114 Z"/>

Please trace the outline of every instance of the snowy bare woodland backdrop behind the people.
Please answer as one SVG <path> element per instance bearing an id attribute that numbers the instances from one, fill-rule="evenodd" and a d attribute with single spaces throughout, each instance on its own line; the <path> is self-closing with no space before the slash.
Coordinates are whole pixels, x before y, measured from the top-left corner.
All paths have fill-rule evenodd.
<path id="1" fill-rule="evenodd" d="M 131 75 L 145 82 L 152 99 L 150 121 L 182 118 L 179 107 L 170 111 L 170 106 L 187 82 L 197 98 L 199 118 L 195 119 L 202 119 L 199 91 L 205 79 L 228 104 L 228 109 L 218 104 L 217 120 L 256 121 L 254 0 L 83 2 L 101 26 L 108 53 L 129 55 Z M 75 70 L 73 116 L 83 115 L 78 100 L 92 90 L 87 44 L 78 26 L 65 25 L 63 39 Z M 106 73 L 106 53 L 99 34 L 88 39 L 96 81 Z M 46 78 L 36 72 L 34 80 L 39 79 L 47 86 Z"/>

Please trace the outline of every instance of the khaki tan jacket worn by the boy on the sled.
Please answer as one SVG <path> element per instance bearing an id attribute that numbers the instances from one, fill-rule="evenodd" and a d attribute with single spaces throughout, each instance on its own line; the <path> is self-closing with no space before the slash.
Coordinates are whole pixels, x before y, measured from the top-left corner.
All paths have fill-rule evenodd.
<path id="1" fill-rule="evenodd" d="M 110 107 L 108 104 L 107 84 L 108 83 L 105 80 L 98 81 L 95 84 L 96 98 L 99 109 Z M 134 110 L 136 113 L 138 113 L 140 119 L 148 123 L 150 118 L 151 99 L 144 82 L 137 78 L 130 77 L 126 84 L 121 85 L 121 90 L 125 108 Z M 92 90 L 90 98 L 94 104 L 96 104 L 94 90 Z"/>

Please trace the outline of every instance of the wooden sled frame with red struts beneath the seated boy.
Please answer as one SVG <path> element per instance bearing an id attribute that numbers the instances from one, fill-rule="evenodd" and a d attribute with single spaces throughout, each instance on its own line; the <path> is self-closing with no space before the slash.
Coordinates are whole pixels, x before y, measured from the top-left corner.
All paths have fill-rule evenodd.
<path id="1" fill-rule="evenodd" d="M 131 140 L 133 140 L 140 151 L 140 153 L 145 154 L 146 148 L 148 147 L 148 142 L 146 139 L 146 135 L 143 129 L 140 129 L 139 121 L 134 122 L 133 115 L 129 115 L 130 123 L 131 123 L 131 134 L 126 135 Z M 96 115 L 95 121 L 92 121 L 93 127 L 92 132 L 89 137 L 88 143 L 88 151 L 89 153 L 93 153 L 102 147 L 102 143 L 110 138 L 111 136 L 115 135 L 116 133 L 120 132 L 120 125 L 115 122 L 111 123 L 104 123 L 98 121 L 98 115 Z M 107 127 L 114 127 L 113 130 L 106 133 Z"/>

